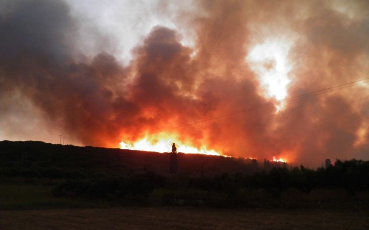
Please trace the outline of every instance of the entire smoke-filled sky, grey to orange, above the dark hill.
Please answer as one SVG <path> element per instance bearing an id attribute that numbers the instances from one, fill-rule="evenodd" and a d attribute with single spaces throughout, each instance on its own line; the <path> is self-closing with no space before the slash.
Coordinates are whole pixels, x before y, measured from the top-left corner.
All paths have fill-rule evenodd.
<path id="1" fill-rule="evenodd" d="M 369 159 L 369 83 L 288 100 L 369 77 L 368 1 L 0 0 L 0 41 L 0 140 Z"/>

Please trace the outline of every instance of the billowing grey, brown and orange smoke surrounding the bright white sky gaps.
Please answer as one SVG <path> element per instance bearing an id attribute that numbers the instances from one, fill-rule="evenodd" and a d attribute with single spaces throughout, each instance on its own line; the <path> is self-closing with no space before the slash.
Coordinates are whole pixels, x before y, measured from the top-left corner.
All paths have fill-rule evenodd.
<path id="1" fill-rule="evenodd" d="M 65 3 L 3 3 L 3 124 L 27 117 L 10 109 L 20 94 L 41 111 L 45 127 L 40 128 L 61 128 L 82 144 L 115 147 L 121 139 L 169 132 L 234 156 L 284 156 L 309 165 L 325 158 L 367 158 L 369 100 L 363 86 L 289 102 L 280 112 L 264 106 L 191 123 L 274 102 L 263 95 L 258 76 L 245 62 L 265 33 L 298 34 L 289 53 L 289 95 L 366 77 L 365 2 L 354 2 L 359 15 L 352 18 L 334 10 L 335 2 L 202 1 L 201 14 L 173 17 L 196 34 L 194 49 L 182 45 L 175 30 L 157 26 L 133 50 L 127 66 L 108 53 L 80 58 L 78 19 Z"/>

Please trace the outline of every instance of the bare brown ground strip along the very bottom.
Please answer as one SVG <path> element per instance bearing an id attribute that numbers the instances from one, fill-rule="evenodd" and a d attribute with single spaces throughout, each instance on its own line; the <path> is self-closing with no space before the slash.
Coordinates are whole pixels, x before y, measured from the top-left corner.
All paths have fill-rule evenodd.
<path id="1" fill-rule="evenodd" d="M 188 207 L 3 210 L 0 229 L 369 229 L 369 213 Z"/>

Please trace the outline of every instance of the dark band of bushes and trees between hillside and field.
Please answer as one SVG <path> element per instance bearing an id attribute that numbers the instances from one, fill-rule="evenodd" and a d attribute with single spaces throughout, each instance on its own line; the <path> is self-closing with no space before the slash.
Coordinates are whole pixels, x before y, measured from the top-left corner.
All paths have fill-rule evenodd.
<path id="1" fill-rule="evenodd" d="M 192 177 L 187 175 L 157 175 L 152 172 L 135 173 L 120 177 L 97 177 L 67 180 L 55 189 L 55 194 L 75 196 L 105 197 L 107 195 L 148 196 L 154 189 L 195 189 L 207 192 L 223 192 L 233 196 L 240 189 L 265 191 L 278 197 L 282 191 L 296 188 L 310 192 L 314 188 L 343 188 L 349 194 L 368 191 L 369 162 L 337 160 L 333 166 L 318 170 L 303 166 L 292 170 L 273 168 L 269 173 L 255 174 L 219 174 L 214 176 Z"/>

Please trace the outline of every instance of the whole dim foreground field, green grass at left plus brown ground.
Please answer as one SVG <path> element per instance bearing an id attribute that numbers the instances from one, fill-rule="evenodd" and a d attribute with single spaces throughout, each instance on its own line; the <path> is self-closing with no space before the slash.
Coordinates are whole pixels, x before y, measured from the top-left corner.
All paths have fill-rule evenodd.
<path id="1" fill-rule="evenodd" d="M 335 208 L 317 208 L 320 205 L 314 204 L 315 208 L 306 209 L 302 206 L 309 205 L 299 204 L 293 209 L 219 209 L 114 207 L 118 204 L 113 200 L 55 197 L 51 189 L 52 186 L 23 183 L 18 192 L 18 184 L 0 184 L 0 229 L 369 229 L 368 210 L 363 205 L 343 206 L 339 200 L 344 200 L 344 193 L 339 191 L 335 191 L 336 196 L 328 193 Z M 326 200 L 324 192 L 313 192 L 313 197 L 323 195 Z M 288 192 L 277 200 L 287 203 L 290 198 L 301 202 L 303 197 L 293 194 Z M 149 200 L 153 199 L 150 197 Z M 273 204 L 273 199 L 262 198 Z"/>

